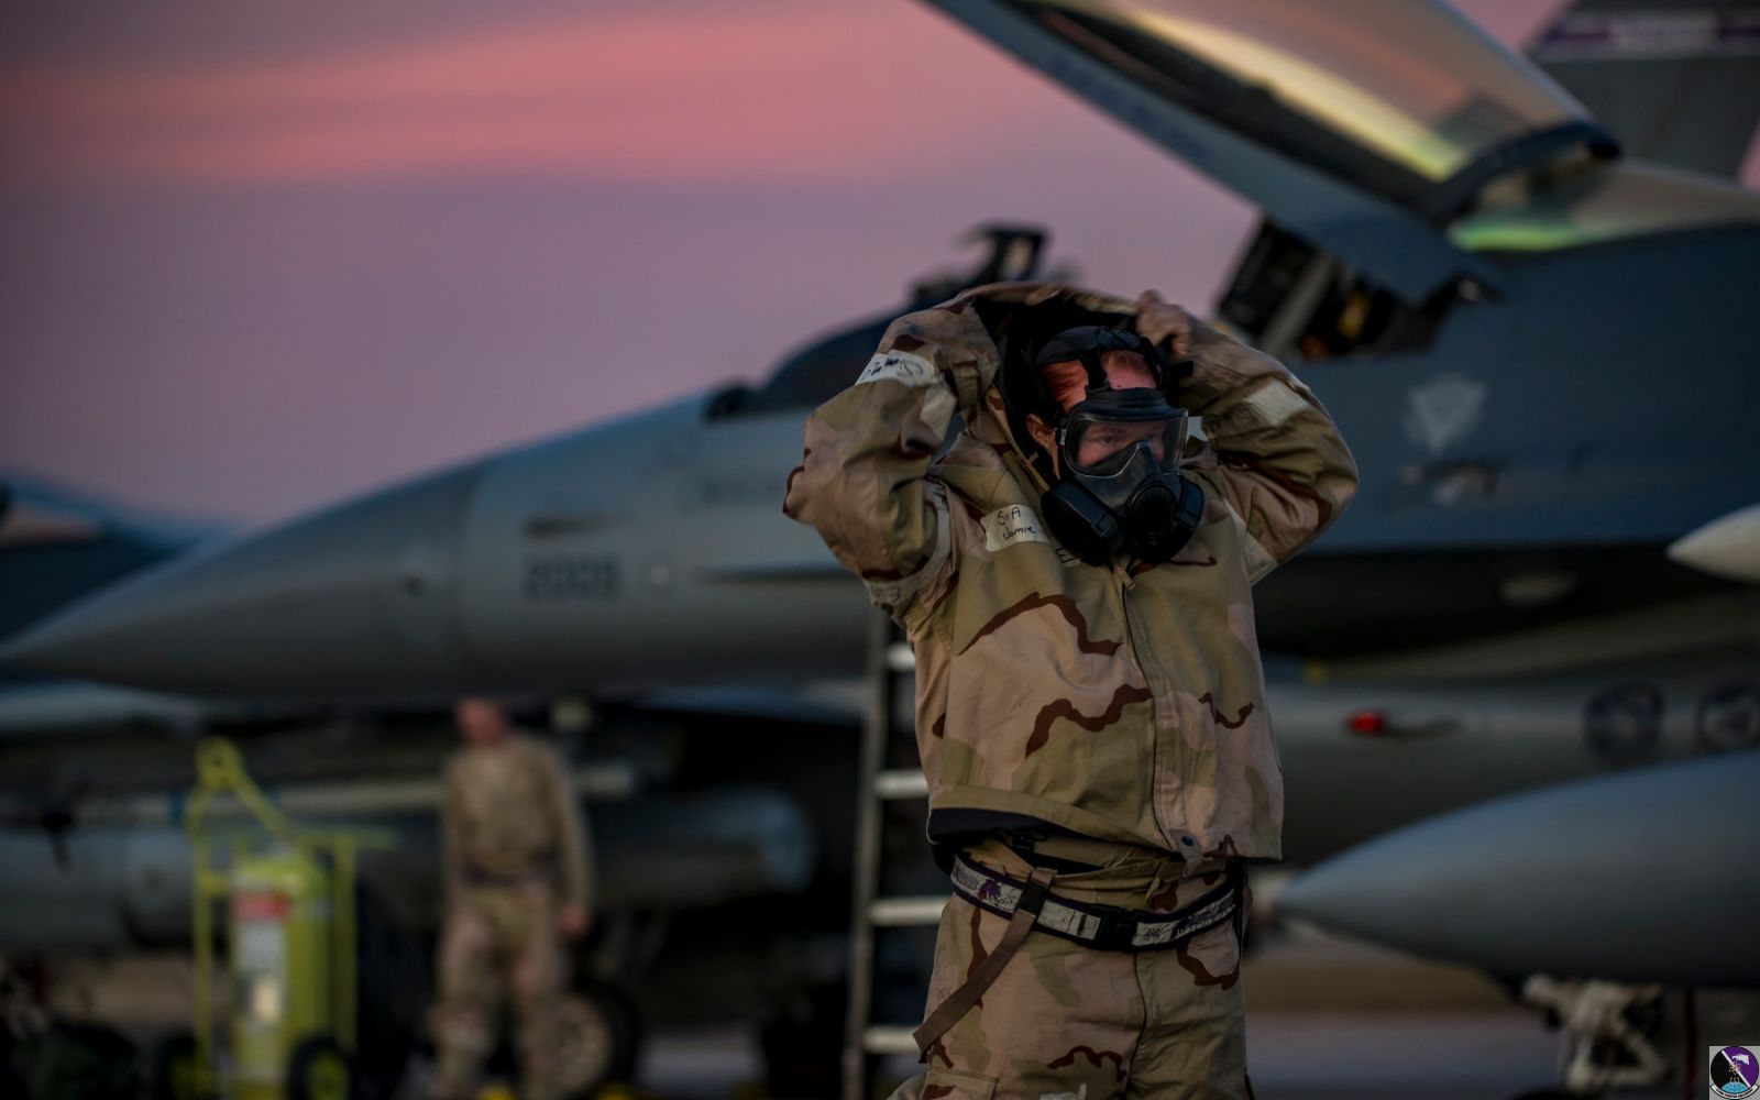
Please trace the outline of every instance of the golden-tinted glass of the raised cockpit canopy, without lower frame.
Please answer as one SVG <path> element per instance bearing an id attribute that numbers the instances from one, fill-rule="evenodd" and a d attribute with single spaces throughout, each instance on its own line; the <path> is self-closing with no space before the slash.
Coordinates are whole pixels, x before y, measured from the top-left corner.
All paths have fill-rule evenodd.
<path id="1" fill-rule="evenodd" d="M 1424 0 L 1001 7 L 1169 104 L 1420 215 L 1487 157 L 1591 121 L 1544 72 Z"/>

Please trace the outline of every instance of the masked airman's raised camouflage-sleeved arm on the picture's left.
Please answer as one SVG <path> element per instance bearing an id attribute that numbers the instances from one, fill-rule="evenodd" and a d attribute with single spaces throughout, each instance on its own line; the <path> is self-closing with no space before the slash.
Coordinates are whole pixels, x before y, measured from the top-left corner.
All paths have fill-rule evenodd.
<path id="1" fill-rule="evenodd" d="M 892 322 L 855 384 L 806 421 L 783 512 L 818 530 L 869 598 L 908 618 L 950 568 L 947 491 L 926 477 L 956 414 L 977 408 L 994 348 L 963 303 Z"/>

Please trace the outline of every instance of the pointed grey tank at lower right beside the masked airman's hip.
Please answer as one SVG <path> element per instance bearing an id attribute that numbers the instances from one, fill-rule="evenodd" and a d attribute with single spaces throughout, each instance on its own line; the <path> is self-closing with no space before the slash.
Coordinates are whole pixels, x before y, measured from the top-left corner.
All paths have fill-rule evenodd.
<path id="1" fill-rule="evenodd" d="M 1760 982 L 1760 752 L 1496 799 L 1294 878 L 1288 915 L 1484 966 L 1624 982 Z"/>

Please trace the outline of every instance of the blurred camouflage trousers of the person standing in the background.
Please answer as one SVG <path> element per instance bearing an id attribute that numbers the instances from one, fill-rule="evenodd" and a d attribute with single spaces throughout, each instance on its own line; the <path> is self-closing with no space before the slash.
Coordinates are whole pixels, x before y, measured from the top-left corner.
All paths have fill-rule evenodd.
<path id="1" fill-rule="evenodd" d="M 475 887 L 447 910 L 435 959 L 438 1001 L 431 1031 L 438 1068 L 429 1095 L 477 1091 L 495 1047 L 503 989 L 519 1026 L 523 1100 L 553 1100 L 568 956 L 556 929 L 556 891 L 546 882 Z"/>

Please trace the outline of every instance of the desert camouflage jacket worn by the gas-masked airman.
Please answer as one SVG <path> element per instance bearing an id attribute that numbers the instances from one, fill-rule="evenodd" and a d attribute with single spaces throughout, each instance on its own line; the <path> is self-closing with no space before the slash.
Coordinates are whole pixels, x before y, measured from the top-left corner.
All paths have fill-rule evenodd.
<path id="1" fill-rule="evenodd" d="M 1339 514 L 1357 468 L 1288 370 L 1197 327 L 1181 398 L 1207 444 L 1181 466 L 1204 488 L 1202 526 L 1163 565 L 1084 565 L 1040 521 L 1045 482 L 1008 428 L 980 317 L 1052 299 L 1135 315 L 998 283 L 898 319 L 808 419 L 783 510 L 910 634 L 931 838 L 975 810 L 1188 861 L 1276 859 L 1283 771 L 1251 586 Z M 954 415 L 966 428 L 943 454 Z"/>

